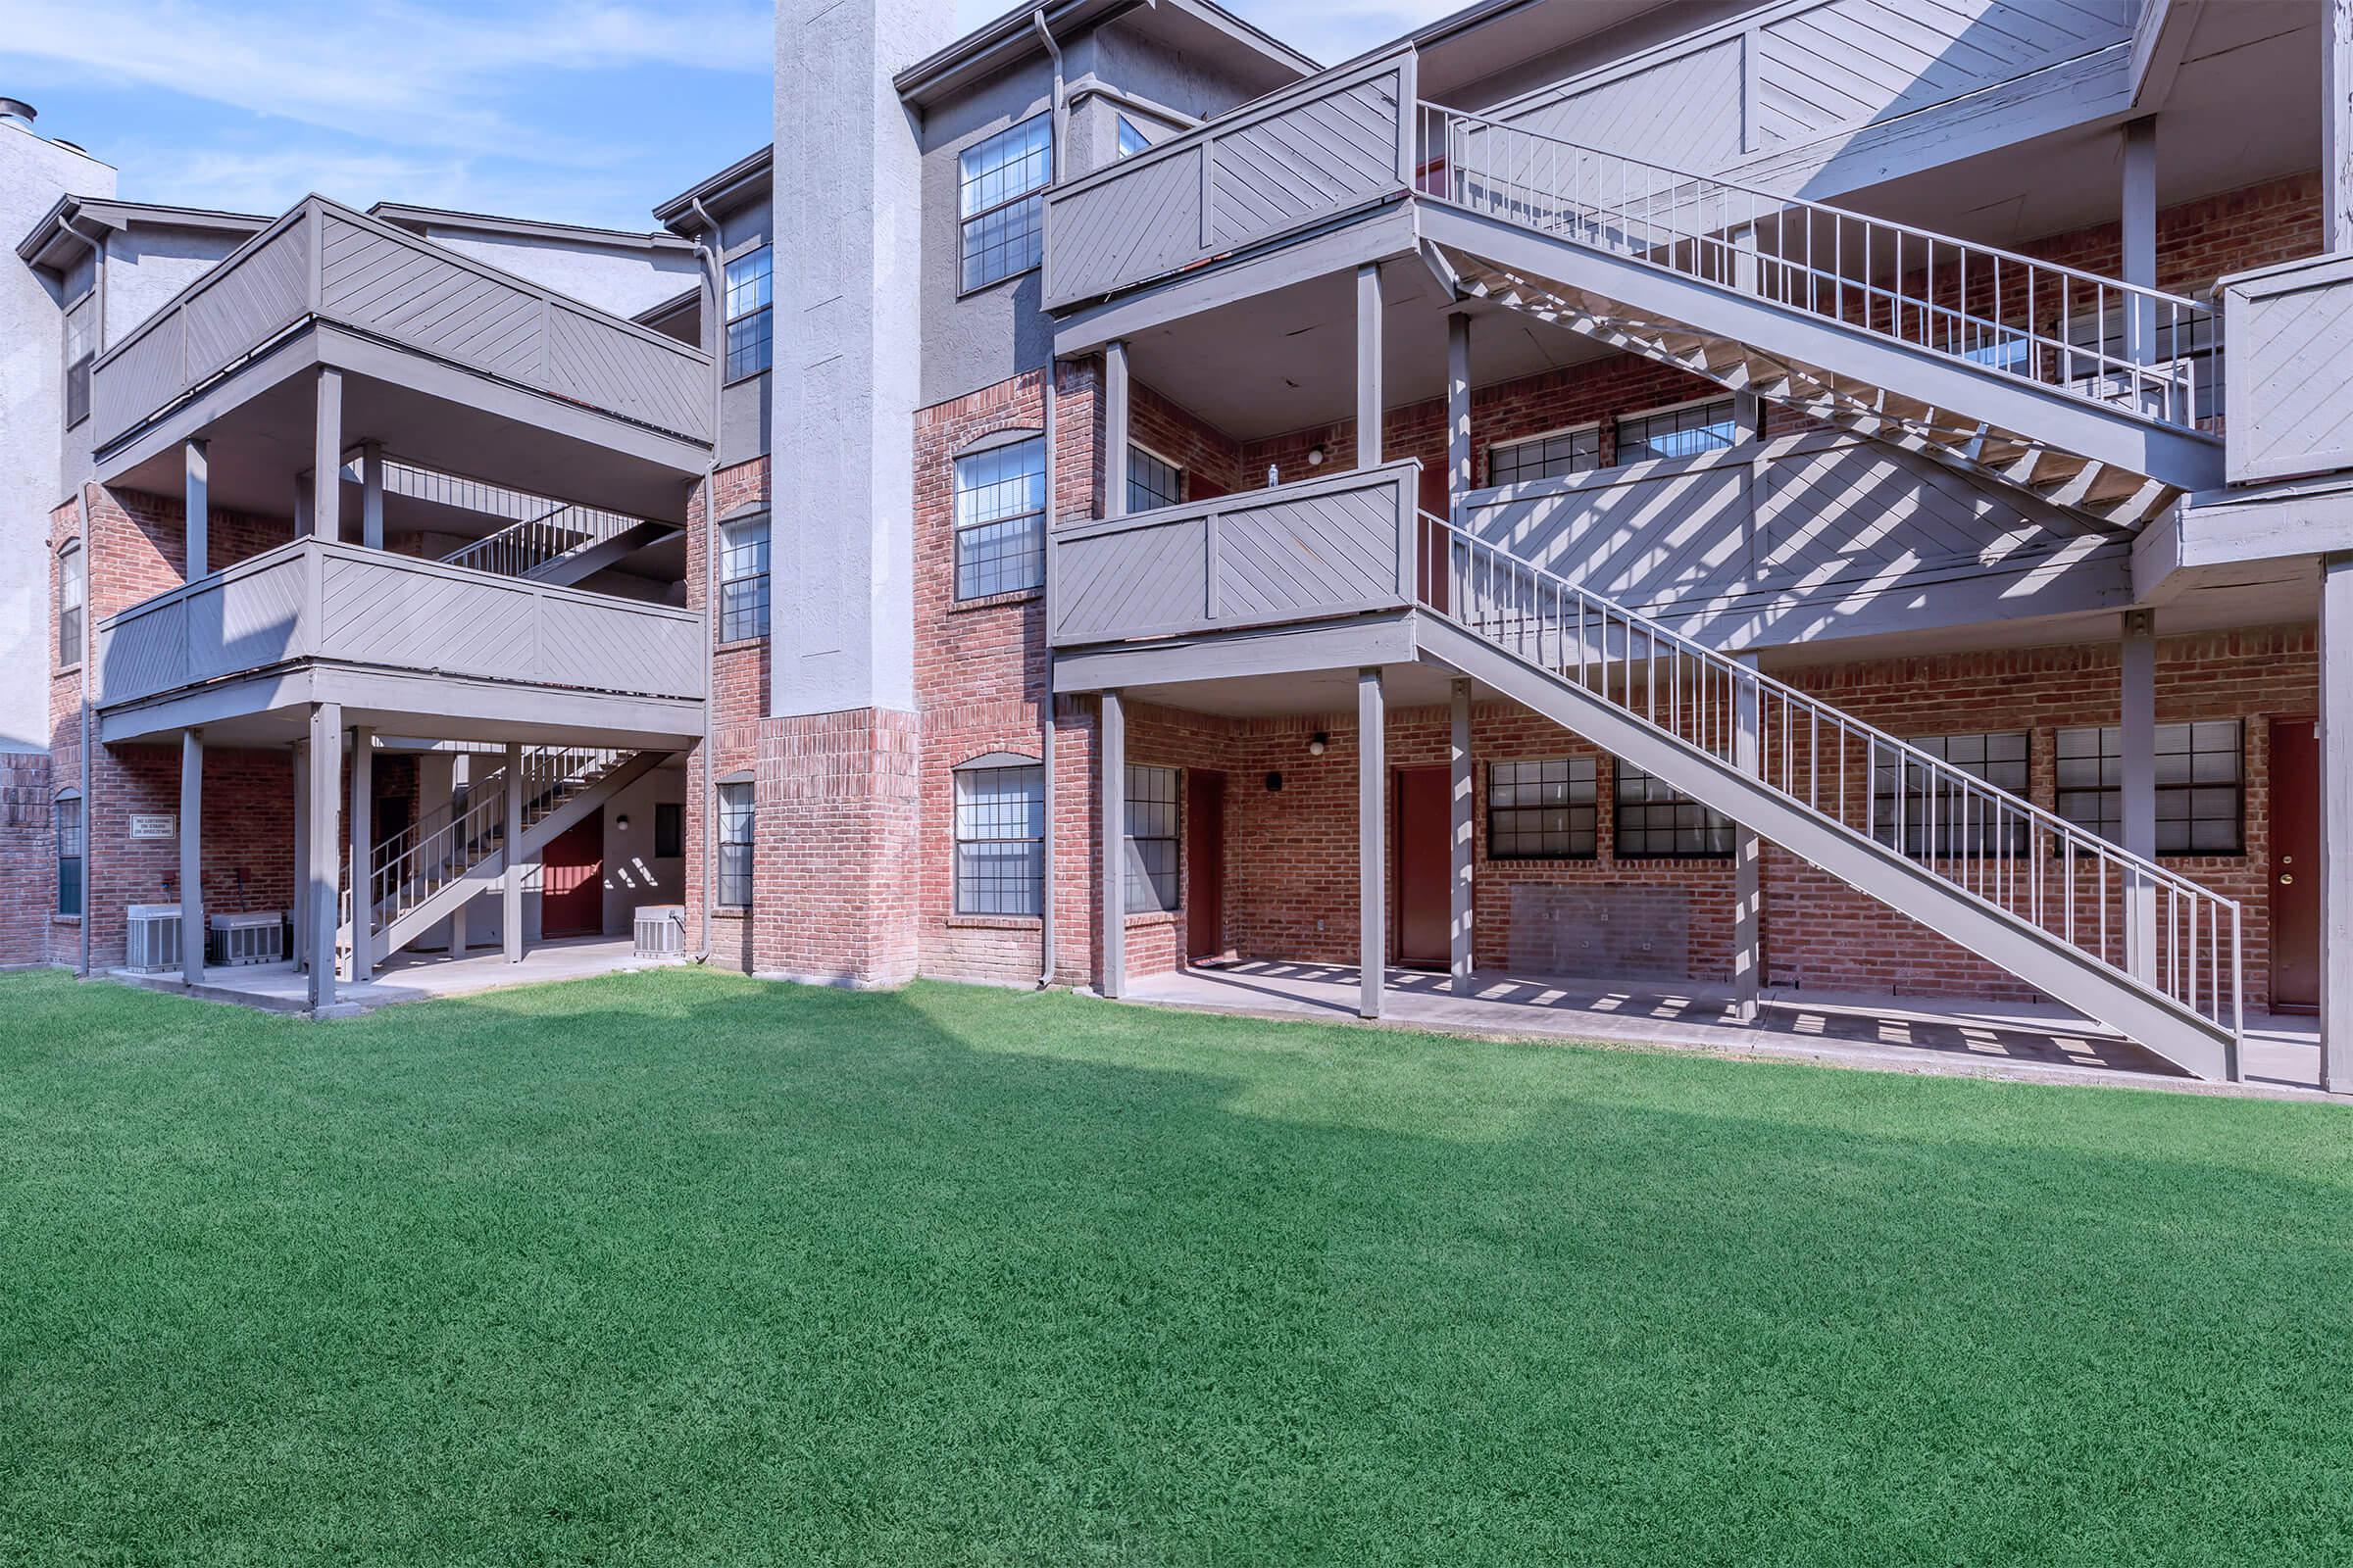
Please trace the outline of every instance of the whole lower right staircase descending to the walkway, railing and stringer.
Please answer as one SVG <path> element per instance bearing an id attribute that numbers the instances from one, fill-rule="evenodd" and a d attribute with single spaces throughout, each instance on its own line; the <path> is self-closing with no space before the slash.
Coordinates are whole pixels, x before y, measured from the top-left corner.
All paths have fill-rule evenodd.
<path id="1" fill-rule="evenodd" d="M 1431 515 L 1421 646 L 2033 990 L 2238 1079 L 2240 907 Z"/>

